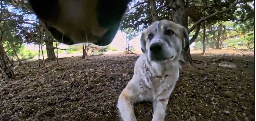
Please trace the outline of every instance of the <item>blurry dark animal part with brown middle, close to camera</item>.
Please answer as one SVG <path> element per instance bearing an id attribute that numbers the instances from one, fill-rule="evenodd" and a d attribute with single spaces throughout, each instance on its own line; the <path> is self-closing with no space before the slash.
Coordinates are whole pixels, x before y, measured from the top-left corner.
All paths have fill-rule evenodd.
<path id="1" fill-rule="evenodd" d="M 52 36 L 72 45 L 109 45 L 131 0 L 29 0 Z"/>

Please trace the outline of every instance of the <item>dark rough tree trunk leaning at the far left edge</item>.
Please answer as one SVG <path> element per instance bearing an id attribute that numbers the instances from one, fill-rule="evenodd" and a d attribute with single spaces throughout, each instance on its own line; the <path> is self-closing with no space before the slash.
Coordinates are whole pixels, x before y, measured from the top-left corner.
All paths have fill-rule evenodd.
<path id="1" fill-rule="evenodd" d="M 4 78 L 13 78 L 14 72 L 12 68 L 8 65 L 8 61 L 6 60 L 6 53 L 4 51 L 4 46 L 0 41 L 0 68 L 4 75 Z"/>

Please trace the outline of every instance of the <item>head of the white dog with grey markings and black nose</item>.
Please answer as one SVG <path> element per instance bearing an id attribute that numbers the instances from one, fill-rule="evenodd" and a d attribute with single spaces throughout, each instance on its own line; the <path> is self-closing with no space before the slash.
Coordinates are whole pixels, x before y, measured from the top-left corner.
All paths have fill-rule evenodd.
<path id="1" fill-rule="evenodd" d="M 190 46 L 186 28 L 167 20 L 151 24 L 141 34 L 140 42 L 142 52 L 156 63 L 177 61 L 181 51 L 188 51 Z"/>

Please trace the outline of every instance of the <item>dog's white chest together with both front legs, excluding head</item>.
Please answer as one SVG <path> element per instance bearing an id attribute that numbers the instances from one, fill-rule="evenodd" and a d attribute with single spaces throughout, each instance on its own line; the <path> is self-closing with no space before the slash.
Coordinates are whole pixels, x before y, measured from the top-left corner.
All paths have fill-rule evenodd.
<path id="1" fill-rule="evenodd" d="M 169 96 L 179 78 L 179 63 L 157 64 L 142 54 L 136 61 L 134 75 L 119 96 L 118 108 L 124 121 L 137 121 L 133 104 L 151 101 L 152 121 L 163 121 Z"/>

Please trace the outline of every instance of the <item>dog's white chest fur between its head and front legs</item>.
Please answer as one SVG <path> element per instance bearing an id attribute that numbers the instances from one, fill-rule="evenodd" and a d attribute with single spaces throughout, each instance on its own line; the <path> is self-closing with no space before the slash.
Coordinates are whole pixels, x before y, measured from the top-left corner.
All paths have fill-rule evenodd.
<path id="1" fill-rule="evenodd" d="M 141 55 L 135 65 L 138 72 L 134 73 L 134 80 L 138 82 L 134 83 L 138 83 L 141 90 L 138 100 L 154 101 L 168 98 L 178 80 L 179 68 L 173 64 L 150 63 L 145 57 Z"/>

